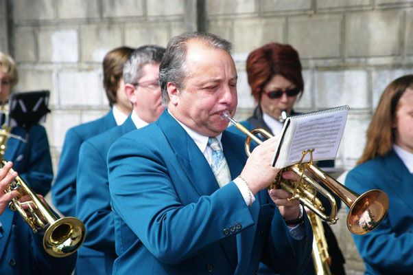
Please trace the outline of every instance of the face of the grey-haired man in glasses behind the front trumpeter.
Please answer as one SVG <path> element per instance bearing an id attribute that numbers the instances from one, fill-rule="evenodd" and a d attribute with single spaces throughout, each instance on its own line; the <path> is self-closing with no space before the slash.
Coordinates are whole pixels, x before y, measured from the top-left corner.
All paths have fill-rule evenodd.
<path id="1" fill-rule="evenodd" d="M 154 122 L 163 112 L 161 87 L 159 87 L 159 63 L 142 66 L 142 76 L 133 91 L 134 111 L 147 123 Z"/>

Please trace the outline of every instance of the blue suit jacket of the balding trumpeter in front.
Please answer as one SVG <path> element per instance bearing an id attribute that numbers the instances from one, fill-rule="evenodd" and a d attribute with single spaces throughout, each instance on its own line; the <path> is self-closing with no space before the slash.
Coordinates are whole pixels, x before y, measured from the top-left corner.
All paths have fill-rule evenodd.
<path id="1" fill-rule="evenodd" d="M 237 177 L 244 141 L 224 131 L 222 145 Z M 113 144 L 108 175 L 119 256 L 114 274 L 253 274 L 260 260 L 294 274 L 309 261 L 309 221 L 296 241 L 266 190 L 248 207 L 233 181 L 219 188 L 198 146 L 167 111 Z"/>

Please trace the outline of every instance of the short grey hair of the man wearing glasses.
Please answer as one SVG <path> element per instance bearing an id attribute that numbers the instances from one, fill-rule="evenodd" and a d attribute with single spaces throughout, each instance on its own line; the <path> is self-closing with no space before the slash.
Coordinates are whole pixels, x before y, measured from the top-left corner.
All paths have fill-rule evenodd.
<path id="1" fill-rule="evenodd" d="M 158 45 L 144 45 L 130 54 L 123 65 L 123 82 L 133 84 L 142 76 L 142 67 L 147 63 L 161 63 L 165 48 Z"/>

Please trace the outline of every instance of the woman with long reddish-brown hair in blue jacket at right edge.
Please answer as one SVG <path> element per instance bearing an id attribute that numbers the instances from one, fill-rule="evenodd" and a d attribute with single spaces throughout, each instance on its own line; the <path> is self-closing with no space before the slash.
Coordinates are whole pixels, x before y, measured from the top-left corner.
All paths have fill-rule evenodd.
<path id="1" fill-rule="evenodd" d="M 367 130 L 362 157 L 346 177 L 346 186 L 362 194 L 381 189 L 389 198 L 380 225 L 353 235 L 365 274 L 412 274 L 413 270 L 413 75 L 386 87 Z"/>

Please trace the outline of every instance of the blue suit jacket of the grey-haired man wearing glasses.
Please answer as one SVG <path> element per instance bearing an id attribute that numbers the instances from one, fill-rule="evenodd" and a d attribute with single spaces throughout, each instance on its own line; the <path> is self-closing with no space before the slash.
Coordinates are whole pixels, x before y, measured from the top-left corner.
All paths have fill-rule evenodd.
<path id="1" fill-rule="evenodd" d="M 115 252 L 115 225 L 110 207 L 106 156 L 110 146 L 123 134 L 136 130 L 128 119 L 96 135 L 80 146 L 76 183 L 76 217 L 86 225 L 86 239 L 79 250 L 76 274 L 112 274 Z M 97 250 L 104 257 L 83 257 L 85 249 Z"/>

